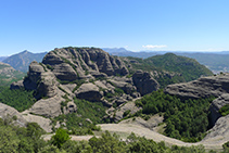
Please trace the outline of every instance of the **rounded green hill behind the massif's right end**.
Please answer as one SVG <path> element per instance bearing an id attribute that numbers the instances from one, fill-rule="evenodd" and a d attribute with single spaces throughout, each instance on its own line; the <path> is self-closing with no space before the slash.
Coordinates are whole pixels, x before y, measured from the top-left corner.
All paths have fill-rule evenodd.
<path id="1" fill-rule="evenodd" d="M 126 60 L 126 63 L 131 65 L 129 66 L 130 69 L 151 72 L 162 88 L 170 84 L 191 81 L 201 76 L 213 75 L 209 69 L 195 60 L 173 53 L 155 55 L 144 60 L 138 58 L 123 59 L 128 59 Z"/>

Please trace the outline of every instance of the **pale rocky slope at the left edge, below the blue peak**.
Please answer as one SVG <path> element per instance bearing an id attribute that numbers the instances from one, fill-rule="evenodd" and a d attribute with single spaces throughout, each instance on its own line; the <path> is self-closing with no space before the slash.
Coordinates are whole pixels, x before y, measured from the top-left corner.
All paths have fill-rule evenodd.
<path id="1" fill-rule="evenodd" d="M 23 79 L 24 73 L 15 71 L 12 66 L 0 62 L 0 87 L 10 86 L 13 81 Z"/>

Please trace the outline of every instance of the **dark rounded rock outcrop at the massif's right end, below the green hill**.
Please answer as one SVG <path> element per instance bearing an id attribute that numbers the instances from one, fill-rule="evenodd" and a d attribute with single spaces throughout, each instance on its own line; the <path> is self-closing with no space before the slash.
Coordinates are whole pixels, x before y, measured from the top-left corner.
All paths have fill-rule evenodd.
<path id="1" fill-rule="evenodd" d="M 132 75 L 132 81 L 141 95 L 156 91 L 160 88 L 160 84 L 153 77 L 151 77 L 149 73 L 142 71 L 137 71 Z"/>

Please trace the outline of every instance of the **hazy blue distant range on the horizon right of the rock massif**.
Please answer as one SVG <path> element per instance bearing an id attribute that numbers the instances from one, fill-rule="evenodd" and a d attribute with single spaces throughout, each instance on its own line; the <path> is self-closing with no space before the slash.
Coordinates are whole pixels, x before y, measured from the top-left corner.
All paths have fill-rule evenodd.
<path id="1" fill-rule="evenodd" d="M 135 58 L 150 58 L 154 55 L 165 54 L 170 51 L 140 51 L 133 52 L 125 48 L 103 48 L 104 51 L 117 56 L 135 56 Z M 182 52 L 174 51 L 177 55 L 195 59 L 199 63 L 205 65 L 213 73 L 229 72 L 229 51 L 221 52 Z"/>

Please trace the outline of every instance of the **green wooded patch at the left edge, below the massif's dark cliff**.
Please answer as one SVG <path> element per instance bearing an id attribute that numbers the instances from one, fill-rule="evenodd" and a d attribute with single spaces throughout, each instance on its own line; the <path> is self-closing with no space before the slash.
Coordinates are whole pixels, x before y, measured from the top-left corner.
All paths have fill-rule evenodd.
<path id="1" fill-rule="evenodd" d="M 0 102 L 16 109 L 18 112 L 23 112 L 36 102 L 33 93 L 34 91 L 24 89 L 11 90 L 7 88 L 0 92 Z"/>

